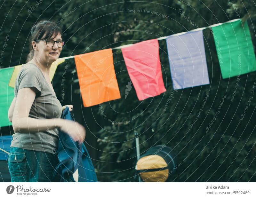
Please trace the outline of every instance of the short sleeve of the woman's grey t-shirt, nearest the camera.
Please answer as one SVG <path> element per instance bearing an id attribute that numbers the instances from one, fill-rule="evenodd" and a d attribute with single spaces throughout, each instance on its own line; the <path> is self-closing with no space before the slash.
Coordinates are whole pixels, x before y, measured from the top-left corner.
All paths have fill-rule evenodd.
<path id="1" fill-rule="evenodd" d="M 25 87 L 32 88 L 36 93 L 36 98 L 41 95 L 42 86 L 38 69 L 36 66 L 27 66 L 21 69 L 15 83 L 15 96 L 17 96 L 20 89 Z"/>

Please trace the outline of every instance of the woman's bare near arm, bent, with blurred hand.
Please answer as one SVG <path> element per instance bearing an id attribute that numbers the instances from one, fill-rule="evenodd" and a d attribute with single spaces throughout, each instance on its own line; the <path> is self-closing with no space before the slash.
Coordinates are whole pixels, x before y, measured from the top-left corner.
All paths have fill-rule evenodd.
<path id="1" fill-rule="evenodd" d="M 32 88 L 22 88 L 18 91 L 12 116 L 14 132 L 28 133 L 46 131 L 59 127 L 61 131 L 68 133 L 74 141 L 82 143 L 86 131 L 84 127 L 74 121 L 60 118 L 36 119 L 28 117 L 36 93 Z"/>

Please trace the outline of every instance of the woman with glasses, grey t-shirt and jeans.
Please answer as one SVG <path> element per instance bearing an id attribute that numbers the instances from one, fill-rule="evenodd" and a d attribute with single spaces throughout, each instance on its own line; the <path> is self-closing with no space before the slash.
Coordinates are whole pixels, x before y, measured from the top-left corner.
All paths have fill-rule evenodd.
<path id="1" fill-rule="evenodd" d="M 28 63 L 15 83 L 15 98 L 8 116 L 14 130 L 8 166 L 12 182 L 52 182 L 58 164 L 58 128 L 82 143 L 82 125 L 61 119 L 62 107 L 53 90 L 49 71 L 59 58 L 63 41 L 53 22 L 40 21 L 31 29 Z M 71 111 L 72 105 L 69 105 Z"/>

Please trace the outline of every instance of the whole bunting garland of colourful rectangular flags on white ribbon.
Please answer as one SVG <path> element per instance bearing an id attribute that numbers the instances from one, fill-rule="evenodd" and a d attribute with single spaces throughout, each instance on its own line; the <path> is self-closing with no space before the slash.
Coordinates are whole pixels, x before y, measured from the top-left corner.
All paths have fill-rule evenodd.
<path id="1" fill-rule="evenodd" d="M 240 19 L 198 28 L 158 39 L 142 41 L 121 49 L 128 74 L 139 100 L 165 92 L 158 40 L 166 39 L 174 89 L 209 84 L 203 29 L 212 28 L 222 78 L 256 71 L 256 59 L 247 22 Z M 58 65 L 75 58 L 84 107 L 120 99 L 112 49 L 57 59 L 50 68 L 52 80 Z M 0 127 L 9 126 L 8 109 L 14 98 L 14 86 L 21 65 L 0 69 Z"/>

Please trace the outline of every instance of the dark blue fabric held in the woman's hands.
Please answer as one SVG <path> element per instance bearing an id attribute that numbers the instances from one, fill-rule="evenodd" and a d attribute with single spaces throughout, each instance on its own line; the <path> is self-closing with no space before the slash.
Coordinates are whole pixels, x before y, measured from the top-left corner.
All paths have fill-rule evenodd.
<path id="1" fill-rule="evenodd" d="M 66 107 L 61 115 L 62 119 L 74 120 L 69 108 Z M 53 174 L 55 182 L 75 182 L 73 174 L 78 170 L 78 182 L 97 182 L 97 176 L 90 155 L 84 144 L 74 142 L 62 131 L 59 133 L 59 146 L 57 150 L 59 164 Z"/>

